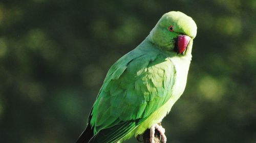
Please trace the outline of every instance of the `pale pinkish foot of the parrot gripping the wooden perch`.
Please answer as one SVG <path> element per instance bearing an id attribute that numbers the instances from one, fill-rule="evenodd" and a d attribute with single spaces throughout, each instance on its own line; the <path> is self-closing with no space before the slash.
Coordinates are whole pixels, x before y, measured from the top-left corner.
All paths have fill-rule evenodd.
<path id="1" fill-rule="evenodd" d="M 161 141 L 163 143 L 166 143 L 166 136 L 164 134 L 165 132 L 165 129 L 161 126 L 161 125 L 158 125 L 158 124 L 154 124 L 151 128 L 150 128 L 150 142 L 151 143 L 155 143 L 155 130 L 157 130 L 159 133 L 160 133 L 160 137 L 161 137 Z"/>

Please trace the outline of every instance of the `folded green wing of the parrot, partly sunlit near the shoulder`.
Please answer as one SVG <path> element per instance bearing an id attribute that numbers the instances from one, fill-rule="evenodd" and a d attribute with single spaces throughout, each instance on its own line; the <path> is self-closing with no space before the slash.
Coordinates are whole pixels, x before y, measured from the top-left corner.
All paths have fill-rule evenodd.
<path id="1" fill-rule="evenodd" d="M 135 49 L 110 69 L 93 105 L 91 142 L 116 142 L 171 96 L 175 68 L 157 51 Z"/>

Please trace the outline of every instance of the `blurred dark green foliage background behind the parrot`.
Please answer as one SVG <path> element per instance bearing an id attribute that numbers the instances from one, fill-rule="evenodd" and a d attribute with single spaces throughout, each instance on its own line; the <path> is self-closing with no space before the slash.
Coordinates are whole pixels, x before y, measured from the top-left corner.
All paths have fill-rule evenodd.
<path id="1" fill-rule="evenodd" d="M 254 0 L 1 1 L 0 142 L 75 142 L 110 66 L 172 10 L 198 35 L 168 142 L 255 143 Z"/>

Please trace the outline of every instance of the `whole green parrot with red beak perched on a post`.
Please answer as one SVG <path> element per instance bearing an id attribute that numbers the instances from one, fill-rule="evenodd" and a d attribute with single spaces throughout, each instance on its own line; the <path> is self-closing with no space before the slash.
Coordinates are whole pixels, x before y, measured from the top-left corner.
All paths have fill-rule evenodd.
<path id="1" fill-rule="evenodd" d="M 179 11 L 165 13 L 135 49 L 106 74 L 81 142 L 115 143 L 155 130 L 183 93 L 191 61 L 195 21 Z"/>

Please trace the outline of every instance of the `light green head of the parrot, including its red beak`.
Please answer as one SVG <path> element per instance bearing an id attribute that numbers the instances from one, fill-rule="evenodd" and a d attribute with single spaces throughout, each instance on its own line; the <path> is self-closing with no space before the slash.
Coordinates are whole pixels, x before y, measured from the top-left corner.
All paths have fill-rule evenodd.
<path id="1" fill-rule="evenodd" d="M 148 38 L 164 51 L 184 55 L 191 53 L 196 35 L 197 25 L 191 17 L 171 11 L 160 18 Z"/>

